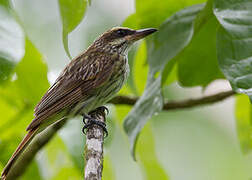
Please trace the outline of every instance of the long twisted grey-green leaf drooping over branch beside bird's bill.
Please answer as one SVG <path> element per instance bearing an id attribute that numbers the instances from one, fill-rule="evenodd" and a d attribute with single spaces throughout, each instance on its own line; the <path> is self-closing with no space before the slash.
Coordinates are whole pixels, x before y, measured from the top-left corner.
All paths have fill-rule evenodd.
<path id="1" fill-rule="evenodd" d="M 134 156 L 136 138 L 153 114 L 163 107 L 161 76 L 167 62 L 176 56 L 191 40 L 193 20 L 202 9 L 202 5 L 192 6 L 177 12 L 165 23 L 159 32 L 147 41 L 149 75 L 143 95 L 132 108 L 124 121 L 124 129 L 129 136 L 131 152 Z"/>

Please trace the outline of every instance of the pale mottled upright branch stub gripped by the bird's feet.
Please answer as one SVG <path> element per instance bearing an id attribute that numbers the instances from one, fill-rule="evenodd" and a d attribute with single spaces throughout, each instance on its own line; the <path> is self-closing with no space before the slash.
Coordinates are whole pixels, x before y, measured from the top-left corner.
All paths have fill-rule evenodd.
<path id="1" fill-rule="evenodd" d="M 106 122 L 104 112 L 93 112 L 89 115 L 97 121 Z M 101 180 L 102 178 L 103 142 L 103 129 L 97 125 L 88 127 L 85 146 L 85 180 Z"/>

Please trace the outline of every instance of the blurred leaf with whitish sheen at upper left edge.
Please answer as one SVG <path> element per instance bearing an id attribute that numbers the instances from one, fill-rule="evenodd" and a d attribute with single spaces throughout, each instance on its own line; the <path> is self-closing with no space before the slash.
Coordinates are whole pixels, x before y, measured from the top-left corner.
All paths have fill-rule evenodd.
<path id="1" fill-rule="evenodd" d="M 0 6 L 0 84 L 10 77 L 15 64 L 24 55 L 24 34 L 3 6 Z"/>

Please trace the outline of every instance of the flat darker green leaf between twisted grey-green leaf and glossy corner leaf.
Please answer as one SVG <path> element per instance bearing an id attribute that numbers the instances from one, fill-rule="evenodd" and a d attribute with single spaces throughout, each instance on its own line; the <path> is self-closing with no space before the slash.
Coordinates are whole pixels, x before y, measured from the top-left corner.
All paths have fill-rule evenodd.
<path id="1" fill-rule="evenodd" d="M 212 12 L 212 0 L 209 0 L 195 20 L 192 41 L 176 58 L 181 85 L 207 86 L 211 81 L 223 77 L 216 54 L 217 25 Z"/>

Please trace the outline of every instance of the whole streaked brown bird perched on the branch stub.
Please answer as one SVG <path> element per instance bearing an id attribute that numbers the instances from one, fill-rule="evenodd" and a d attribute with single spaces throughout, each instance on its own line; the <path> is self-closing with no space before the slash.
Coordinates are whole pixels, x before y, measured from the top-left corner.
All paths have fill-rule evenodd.
<path id="1" fill-rule="evenodd" d="M 132 44 L 156 31 L 155 28 L 114 27 L 74 58 L 36 105 L 28 132 L 4 167 L 1 178 L 7 177 L 38 133 L 57 121 L 88 114 L 108 102 L 128 77 L 127 54 Z"/>

